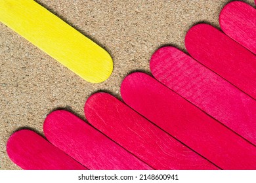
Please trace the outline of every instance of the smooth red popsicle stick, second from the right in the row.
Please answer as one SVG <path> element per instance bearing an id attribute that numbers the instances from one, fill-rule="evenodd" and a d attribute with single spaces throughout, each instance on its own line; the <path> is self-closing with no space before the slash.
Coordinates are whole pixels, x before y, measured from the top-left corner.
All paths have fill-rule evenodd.
<path id="1" fill-rule="evenodd" d="M 256 99 L 256 56 L 211 25 L 192 27 L 185 38 L 188 53 Z"/>

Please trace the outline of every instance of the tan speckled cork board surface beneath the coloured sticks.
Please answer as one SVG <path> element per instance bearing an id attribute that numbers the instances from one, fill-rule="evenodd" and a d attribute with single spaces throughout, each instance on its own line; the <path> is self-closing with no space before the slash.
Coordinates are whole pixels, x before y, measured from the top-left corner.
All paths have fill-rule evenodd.
<path id="1" fill-rule="evenodd" d="M 86 120 L 85 101 L 98 91 L 121 99 L 119 86 L 126 75 L 150 73 L 150 57 L 161 46 L 186 52 L 186 31 L 199 22 L 219 28 L 219 12 L 228 2 L 37 0 L 110 53 L 114 71 L 100 84 L 79 78 L 0 23 L 0 169 L 20 169 L 6 152 L 14 131 L 30 128 L 43 135 L 45 117 L 57 108 Z"/>

